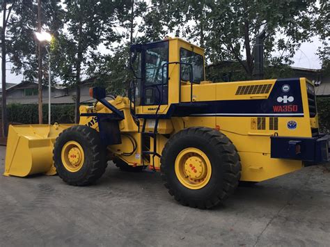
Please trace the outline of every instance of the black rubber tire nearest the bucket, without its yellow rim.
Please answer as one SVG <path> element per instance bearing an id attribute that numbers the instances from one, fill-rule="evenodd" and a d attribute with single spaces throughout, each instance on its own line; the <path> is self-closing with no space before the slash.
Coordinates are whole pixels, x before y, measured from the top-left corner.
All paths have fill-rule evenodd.
<path id="1" fill-rule="evenodd" d="M 74 173 L 63 166 L 61 159 L 63 145 L 68 141 L 77 141 L 84 150 L 84 164 Z M 101 143 L 100 134 L 84 125 L 72 126 L 59 134 L 54 144 L 53 159 L 58 176 L 74 186 L 93 184 L 107 167 L 106 149 Z"/>

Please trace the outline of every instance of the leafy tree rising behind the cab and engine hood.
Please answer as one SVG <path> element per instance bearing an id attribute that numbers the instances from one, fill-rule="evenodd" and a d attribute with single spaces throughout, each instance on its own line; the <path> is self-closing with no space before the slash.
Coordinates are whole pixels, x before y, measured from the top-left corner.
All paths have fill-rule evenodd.
<path id="1" fill-rule="evenodd" d="M 256 35 L 262 29 L 267 33 L 265 57 L 269 63 L 290 63 L 301 42 L 308 41 L 313 32 L 315 2 L 153 0 L 155 8 L 148 13 L 151 18 L 144 29 L 174 31 L 177 36 L 196 41 L 205 47 L 207 62 L 237 61 L 249 79 L 253 75 Z M 274 51 L 281 55 L 272 56 Z"/>

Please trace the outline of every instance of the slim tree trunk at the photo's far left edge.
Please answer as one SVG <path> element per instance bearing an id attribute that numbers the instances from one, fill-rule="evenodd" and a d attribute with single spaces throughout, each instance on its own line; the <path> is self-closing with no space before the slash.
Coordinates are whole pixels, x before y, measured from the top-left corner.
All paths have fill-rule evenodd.
<path id="1" fill-rule="evenodd" d="M 2 31 L 1 31 L 1 83 L 2 83 L 2 112 L 1 112 L 1 118 L 2 118 L 2 134 L 4 137 L 8 134 L 7 129 L 7 93 L 6 93 L 6 8 L 7 8 L 7 1 L 4 0 L 2 3 Z"/>

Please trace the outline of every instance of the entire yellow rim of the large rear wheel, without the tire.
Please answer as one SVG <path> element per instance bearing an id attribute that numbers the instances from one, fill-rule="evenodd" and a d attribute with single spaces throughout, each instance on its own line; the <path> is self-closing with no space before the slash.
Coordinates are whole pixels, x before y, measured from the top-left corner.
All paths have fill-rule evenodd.
<path id="1" fill-rule="evenodd" d="M 210 159 L 197 148 L 186 148 L 175 159 L 175 174 L 187 188 L 201 189 L 211 178 Z"/>

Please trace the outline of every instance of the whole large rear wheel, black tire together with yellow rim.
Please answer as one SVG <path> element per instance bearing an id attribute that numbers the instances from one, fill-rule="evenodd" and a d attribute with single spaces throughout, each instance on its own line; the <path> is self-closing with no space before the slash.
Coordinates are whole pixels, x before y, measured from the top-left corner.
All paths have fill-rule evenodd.
<path id="1" fill-rule="evenodd" d="M 161 172 L 168 193 L 182 205 L 211 208 L 228 198 L 241 175 L 239 154 L 221 132 L 183 129 L 168 140 Z"/>

